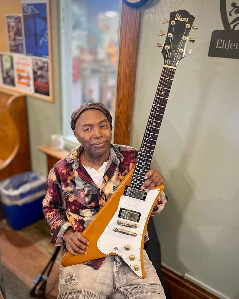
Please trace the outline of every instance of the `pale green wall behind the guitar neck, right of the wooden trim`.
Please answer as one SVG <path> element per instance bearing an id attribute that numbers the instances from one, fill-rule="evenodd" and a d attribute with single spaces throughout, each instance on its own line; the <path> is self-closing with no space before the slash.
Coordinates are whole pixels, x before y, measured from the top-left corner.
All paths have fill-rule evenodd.
<path id="1" fill-rule="evenodd" d="M 155 224 L 162 261 L 215 289 L 239 298 L 239 97 L 238 59 L 208 57 L 213 30 L 223 30 L 219 0 L 149 0 L 143 10 L 136 78 L 132 146 L 143 138 L 163 56 L 156 42 L 171 11 L 195 16 L 191 56 L 177 66 L 153 166 L 165 177 L 169 202 Z M 231 1 L 232 2 L 232 1 Z M 231 3 L 230 2 L 230 3 Z M 239 51 L 239 50 L 238 50 Z M 220 294 L 221 293 L 221 294 Z"/>

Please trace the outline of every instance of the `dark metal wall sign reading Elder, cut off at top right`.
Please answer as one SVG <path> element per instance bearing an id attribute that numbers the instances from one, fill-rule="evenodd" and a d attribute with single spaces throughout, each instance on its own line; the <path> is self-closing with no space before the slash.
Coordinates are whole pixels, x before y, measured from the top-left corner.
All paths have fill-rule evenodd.
<path id="1" fill-rule="evenodd" d="M 220 0 L 220 13 L 225 30 L 212 32 L 208 56 L 239 59 L 239 0 Z"/>

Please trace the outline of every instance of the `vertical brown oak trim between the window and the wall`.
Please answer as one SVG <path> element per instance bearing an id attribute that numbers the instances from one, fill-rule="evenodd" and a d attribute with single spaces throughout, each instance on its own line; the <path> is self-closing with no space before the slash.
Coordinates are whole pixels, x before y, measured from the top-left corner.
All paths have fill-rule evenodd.
<path id="1" fill-rule="evenodd" d="M 122 2 L 114 143 L 130 145 L 142 7 Z"/>

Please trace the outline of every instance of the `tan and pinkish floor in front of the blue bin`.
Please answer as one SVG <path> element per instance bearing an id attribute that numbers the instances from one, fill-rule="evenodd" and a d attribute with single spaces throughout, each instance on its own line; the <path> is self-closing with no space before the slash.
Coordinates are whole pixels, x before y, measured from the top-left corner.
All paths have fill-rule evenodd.
<path id="1" fill-rule="evenodd" d="M 45 223 L 45 219 L 19 231 L 14 231 L 7 225 L 6 220 L 2 219 L 0 221 L 0 246 L 3 266 L 30 289 L 34 286 L 33 280 L 42 274 L 56 250 L 56 247 L 50 245 L 50 227 Z M 53 290 L 47 296 L 49 299 L 55 299 L 58 295 L 57 277 L 62 256 L 63 253 L 60 250 L 47 281 L 46 294 L 54 285 Z"/>

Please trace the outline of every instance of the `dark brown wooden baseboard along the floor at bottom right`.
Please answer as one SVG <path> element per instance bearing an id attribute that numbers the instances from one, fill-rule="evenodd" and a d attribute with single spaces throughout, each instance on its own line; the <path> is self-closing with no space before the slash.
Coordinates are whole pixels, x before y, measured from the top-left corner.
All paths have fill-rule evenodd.
<path id="1" fill-rule="evenodd" d="M 219 299 L 164 265 L 162 265 L 162 274 L 172 299 Z"/>

